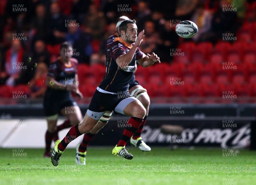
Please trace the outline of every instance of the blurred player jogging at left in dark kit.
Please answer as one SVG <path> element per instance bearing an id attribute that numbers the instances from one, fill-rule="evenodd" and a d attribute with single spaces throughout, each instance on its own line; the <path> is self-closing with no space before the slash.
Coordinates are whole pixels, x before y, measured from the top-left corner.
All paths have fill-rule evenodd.
<path id="1" fill-rule="evenodd" d="M 80 108 L 71 96 L 73 92 L 76 96 L 83 97 L 78 88 L 76 74 L 78 62 L 71 58 L 72 55 L 72 46 L 64 42 L 60 48 L 60 57 L 49 65 L 45 81 L 47 90 L 44 94 L 44 114 L 47 120 L 44 157 L 51 157 L 52 139 L 58 139 L 58 131 L 76 125 L 82 120 Z M 59 113 L 66 116 L 67 120 L 56 127 Z"/>

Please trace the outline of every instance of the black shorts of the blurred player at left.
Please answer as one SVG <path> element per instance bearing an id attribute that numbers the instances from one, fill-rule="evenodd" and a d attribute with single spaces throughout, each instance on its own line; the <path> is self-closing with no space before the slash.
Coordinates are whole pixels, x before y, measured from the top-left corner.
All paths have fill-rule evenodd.
<path id="1" fill-rule="evenodd" d="M 55 114 L 59 114 L 61 109 L 70 106 L 76 106 L 77 103 L 72 98 L 71 93 L 67 92 L 67 94 L 60 94 L 56 96 L 55 94 L 51 94 L 46 92 L 44 94 L 44 116 L 53 116 Z"/>

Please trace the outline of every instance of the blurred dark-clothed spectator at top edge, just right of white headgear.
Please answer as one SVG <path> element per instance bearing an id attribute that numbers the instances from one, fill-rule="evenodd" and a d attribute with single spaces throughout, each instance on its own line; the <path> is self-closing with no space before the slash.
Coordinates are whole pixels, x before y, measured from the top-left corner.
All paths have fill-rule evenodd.
<path id="1" fill-rule="evenodd" d="M 138 12 L 135 18 L 139 31 L 143 29 L 145 22 L 147 20 L 150 20 L 150 16 L 151 16 L 151 11 L 148 8 L 148 4 L 145 1 L 140 1 L 138 3 Z"/>

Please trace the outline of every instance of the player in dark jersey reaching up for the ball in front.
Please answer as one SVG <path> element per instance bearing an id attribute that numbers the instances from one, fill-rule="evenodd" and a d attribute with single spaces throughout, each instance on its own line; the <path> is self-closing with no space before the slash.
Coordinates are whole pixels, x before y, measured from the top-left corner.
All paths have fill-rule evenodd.
<path id="1" fill-rule="evenodd" d="M 111 45 L 111 57 L 107 58 L 106 75 L 93 95 L 84 120 L 81 124 L 70 128 L 64 139 L 55 142 L 51 157 L 54 166 L 58 165 L 67 145 L 81 134 L 93 130 L 106 111 L 115 111 L 131 117 L 128 120 L 128 125 L 131 126 L 125 128 L 112 154 L 129 160 L 133 158 L 125 145 L 143 123 L 146 110 L 139 100 L 128 93 L 129 82 L 135 72 L 136 61 L 143 67 L 148 67 L 155 62 L 160 63 L 160 58 L 154 53 L 145 55 L 140 51 L 139 46 L 143 41 L 144 30 L 137 36 L 135 20 L 123 21 L 119 29 L 121 39 Z"/>

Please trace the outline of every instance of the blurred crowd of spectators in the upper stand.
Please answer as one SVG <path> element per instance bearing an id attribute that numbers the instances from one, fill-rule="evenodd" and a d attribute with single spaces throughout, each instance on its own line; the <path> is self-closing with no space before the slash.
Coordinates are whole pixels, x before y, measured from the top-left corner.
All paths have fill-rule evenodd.
<path id="1" fill-rule="evenodd" d="M 198 25 L 193 41 L 216 43 L 223 33 L 236 34 L 244 21 L 256 20 L 256 11 L 245 17 L 246 3 L 254 1 L 1 0 L 0 84 L 31 83 L 35 88 L 64 41 L 73 45 L 79 63 L 105 65 L 105 42 L 122 15 L 135 19 L 138 31 L 145 29 L 144 53 L 155 52 L 162 62 L 172 63 L 170 48 L 188 41 L 175 33 L 177 22 Z M 225 12 L 223 5 L 236 11 Z"/>

